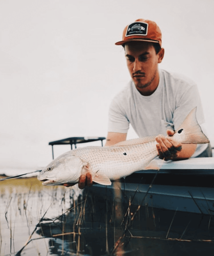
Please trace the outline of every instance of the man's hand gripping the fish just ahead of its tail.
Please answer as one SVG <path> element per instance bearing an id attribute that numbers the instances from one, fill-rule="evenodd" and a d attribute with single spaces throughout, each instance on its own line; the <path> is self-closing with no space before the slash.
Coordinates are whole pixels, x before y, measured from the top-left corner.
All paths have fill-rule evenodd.
<path id="1" fill-rule="evenodd" d="M 162 134 L 158 135 L 155 139 L 157 141 L 156 147 L 160 159 L 175 160 L 179 157 L 179 153 L 182 149 L 182 144 L 173 138 L 175 132 L 167 130 L 168 138 L 165 138 Z"/>

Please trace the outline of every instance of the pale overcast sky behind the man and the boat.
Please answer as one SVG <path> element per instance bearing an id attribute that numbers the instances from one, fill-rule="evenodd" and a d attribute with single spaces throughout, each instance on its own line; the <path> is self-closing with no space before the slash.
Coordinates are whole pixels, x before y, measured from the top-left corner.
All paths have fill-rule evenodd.
<path id="1" fill-rule="evenodd" d="M 110 101 L 130 80 L 114 43 L 137 18 L 162 31 L 159 67 L 197 82 L 214 145 L 213 10 L 211 0 L 0 0 L 0 168 L 48 164 L 49 141 L 107 135 Z"/>

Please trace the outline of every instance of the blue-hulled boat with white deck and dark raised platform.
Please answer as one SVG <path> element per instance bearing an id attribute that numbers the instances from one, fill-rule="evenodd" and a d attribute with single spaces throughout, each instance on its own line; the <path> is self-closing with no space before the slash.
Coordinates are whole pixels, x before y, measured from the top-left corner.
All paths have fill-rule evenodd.
<path id="1" fill-rule="evenodd" d="M 100 140 L 103 144 L 104 139 L 105 137 L 97 137 L 90 138 L 90 141 Z M 63 144 L 74 141 L 76 144 L 88 142 L 83 137 L 72 137 L 64 139 Z M 49 144 L 53 150 L 53 145 L 61 142 L 62 140 Z M 110 198 L 118 195 L 115 193 L 118 188 L 120 200 L 131 202 L 132 205 L 210 216 L 214 214 L 214 157 L 168 162 L 157 158 L 157 163 L 159 170 L 139 170 L 126 178 L 113 181 L 110 186 L 94 184 L 89 188 L 90 193 Z"/>

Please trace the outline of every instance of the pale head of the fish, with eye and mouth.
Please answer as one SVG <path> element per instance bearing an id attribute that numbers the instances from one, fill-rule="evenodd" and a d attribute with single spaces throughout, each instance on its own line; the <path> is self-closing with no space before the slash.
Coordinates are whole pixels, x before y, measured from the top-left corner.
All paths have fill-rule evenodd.
<path id="1" fill-rule="evenodd" d="M 53 160 L 37 176 L 42 185 L 59 185 L 63 183 L 78 183 L 82 168 L 82 160 L 66 152 Z"/>

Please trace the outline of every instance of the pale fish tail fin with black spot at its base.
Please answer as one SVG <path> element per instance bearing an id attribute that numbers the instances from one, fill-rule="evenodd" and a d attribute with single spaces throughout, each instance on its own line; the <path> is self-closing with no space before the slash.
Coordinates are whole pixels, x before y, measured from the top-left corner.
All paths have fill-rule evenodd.
<path id="1" fill-rule="evenodd" d="M 201 126 L 196 119 L 196 109 L 195 107 L 180 125 L 179 129 L 176 131 L 178 134 L 183 134 L 181 143 L 183 144 L 205 144 L 209 143 L 209 139 L 202 132 Z"/>

